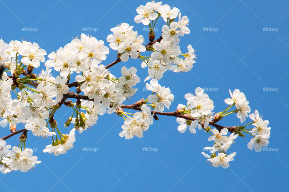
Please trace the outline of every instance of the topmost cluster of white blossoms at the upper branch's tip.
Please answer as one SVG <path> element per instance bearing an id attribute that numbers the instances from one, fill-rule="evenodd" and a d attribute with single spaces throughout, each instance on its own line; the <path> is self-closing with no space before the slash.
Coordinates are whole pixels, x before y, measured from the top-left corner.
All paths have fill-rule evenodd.
<path id="1" fill-rule="evenodd" d="M 143 60 L 141 67 L 148 66 L 149 76 L 144 81 L 151 78 L 160 79 L 167 70 L 174 72 L 190 71 L 195 63 L 195 50 L 191 45 L 188 45 L 188 52 L 182 54 L 178 45 L 180 43 L 179 36 L 190 33 L 187 27 L 188 17 L 181 16 L 176 7 L 171 8 L 167 4 L 162 5 L 162 2 L 156 3 L 154 1 L 148 2 L 145 6 L 139 6 L 137 12 L 139 15 L 135 16 L 135 22 L 149 25 L 151 36 L 154 36 L 154 26 L 160 16 L 166 22 L 166 25 L 162 27 L 161 40 L 155 42 L 153 46 L 147 47 L 148 50 L 153 51 L 151 57 L 141 58 Z M 175 21 L 177 16 L 178 22 Z M 181 58 L 181 55 L 185 59 Z"/>

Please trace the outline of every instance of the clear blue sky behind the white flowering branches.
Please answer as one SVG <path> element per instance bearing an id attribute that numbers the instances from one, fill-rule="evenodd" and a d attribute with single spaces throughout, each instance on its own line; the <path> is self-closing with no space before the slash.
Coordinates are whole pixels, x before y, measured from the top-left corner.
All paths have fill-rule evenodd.
<path id="1" fill-rule="evenodd" d="M 110 28 L 121 22 L 134 26 L 148 42 L 143 25 L 136 24 L 135 9 L 146 1 L 26 1 L 1 0 L 2 29 L 5 42 L 26 39 L 36 42 L 49 54 L 79 36 L 83 28 L 89 35 L 104 40 L 106 46 Z M 214 101 L 214 112 L 225 109 L 228 89 L 240 89 L 255 109 L 269 120 L 271 149 L 278 152 L 250 151 L 252 138 L 237 138 L 228 152 L 237 152 L 228 169 L 214 168 L 201 155 L 211 146 L 208 134 L 177 131 L 176 118 L 159 116 L 142 139 L 125 140 L 119 137 L 123 119 L 115 114 L 100 116 L 91 130 L 76 135 L 74 148 L 67 154 L 54 157 L 42 153 L 50 140 L 28 135 L 26 146 L 36 148 L 42 161 L 28 173 L 14 172 L 0 176 L 1 191 L 285 191 L 288 190 L 289 158 L 287 116 L 289 111 L 289 2 L 288 1 L 163 1 L 180 9 L 190 19 L 191 33 L 181 38 L 181 50 L 188 44 L 196 50 L 197 59 L 188 73 L 166 72 L 159 81 L 170 87 L 175 101 L 185 104 L 184 95 L 196 87 L 215 88 L 207 91 Z M 156 25 L 156 37 L 161 35 L 161 21 Z M 23 31 L 27 28 L 27 31 Z M 206 31 L 206 28 L 208 29 Z M 268 30 L 267 30 L 268 29 Z M 87 32 L 85 32 L 87 33 Z M 145 53 L 144 55 L 149 55 Z M 104 65 L 115 60 L 110 49 Z M 120 68 L 134 66 L 142 80 L 147 69 L 140 60 L 129 59 L 110 68 L 120 76 Z M 44 65 L 43 65 L 44 66 Z M 56 73 L 55 73 L 56 74 Z M 127 103 L 147 97 L 138 84 L 138 92 Z M 267 89 L 266 89 L 267 88 Z M 268 91 L 266 91 L 268 90 Z M 275 91 L 273 91 L 275 90 Z M 65 122 L 71 111 L 63 106 L 55 119 Z M 248 119 L 246 122 L 250 122 Z M 235 115 L 219 122 L 224 126 L 242 125 Z M 18 127 L 18 129 L 21 129 Z M 69 133 L 69 128 L 61 128 Z M 9 134 L 2 128 L 1 137 Z M 7 142 L 18 144 L 18 136 Z M 82 149 L 97 149 L 84 152 Z M 157 152 L 143 152 L 143 148 Z"/>

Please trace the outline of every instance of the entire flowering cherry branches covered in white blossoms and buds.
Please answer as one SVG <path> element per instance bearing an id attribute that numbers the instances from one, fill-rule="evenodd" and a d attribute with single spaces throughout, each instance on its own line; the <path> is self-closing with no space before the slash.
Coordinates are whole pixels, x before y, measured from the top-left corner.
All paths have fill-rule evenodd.
<path id="1" fill-rule="evenodd" d="M 149 126 L 153 125 L 154 119 L 158 120 L 158 115 L 176 117 L 180 133 L 185 133 L 187 128 L 194 134 L 197 127 L 203 129 L 210 134 L 208 141 L 214 141 L 214 144 L 204 148 L 211 155 L 202 154 L 214 167 L 229 167 L 229 161 L 234 160 L 236 152 L 229 155 L 226 152 L 238 136 L 244 137 L 244 133 L 253 136 L 247 145 L 249 149 L 259 152 L 268 145 L 271 129 L 268 127 L 269 121 L 263 120 L 257 110 L 248 115 L 251 110 L 249 102 L 238 89 L 233 93 L 229 90 L 231 98 L 225 99 L 228 107 L 219 113 L 213 112 L 213 101 L 200 87 L 195 89 L 195 94 L 185 94 L 186 105 L 179 104 L 176 111 L 164 112 L 175 97 L 170 88 L 161 86 L 158 80 L 166 71 L 188 72 L 196 62 L 195 50 L 191 45 L 186 47 L 185 52 L 179 46 L 182 36 L 190 33 L 189 19 L 182 16 L 178 8 L 162 2 L 148 2 L 136 11 L 138 15 L 134 21 L 148 26 L 149 42 L 144 45 L 144 37 L 133 31 L 133 26 L 128 23 L 123 22 L 111 28 L 112 34 L 107 36 L 107 42 L 111 49 L 117 51 L 117 59 L 107 65 L 104 62 L 109 48 L 104 41 L 85 34 L 51 52 L 47 56 L 48 60 L 45 60 L 46 51 L 36 43 L 5 43 L 0 40 L 0 67 L 7 69 L 1 72 L 0 79 L 0 125 L 9 126 L 12 133 L 0 139 L 2 173 L 17 170 L 27 172 L 40 163 L 36 156 L 32 156 L 33 151 L 26 148 L 27 134 L 51 139 L 43 152 L 57 156 L 73 148 L 76 131 L 81 134 L 92 128 L 99 116 L 106 113 L 116 113 L 124 119 L 119 135 L 126 139 L 134 136 L 142 138 Z M 155 40 L 157 30 L 154 29 L 159 18 L 165 24 L 161 26 L 160 37 Z M 148 55 L 141 55 L 142 52 Z M 151 93 L 134 104 L 123 105 L 138 91 L 136 86 L 141 81 L 137 75 L 138 65 L 129 68 L 123 66 L 120 77 L 114 76 L 109 68 L 129 58 L 139 59 L 141 68 L 148 67 L 144 82 L 150 80 L 150 83 L 146 83 L 146 89 Z M 38 75 L 33 73 L 37 67 L 43 67 Z M 71 75 L 73 73 L 76 73 L 75 78 Z M 54 114 L 64 105 L 72 109 L 72 113 L 64 125 L 58 125 Z M 236 109 L 230 111 L 234 106 Z M 128 113 L 126 109 L 137 112 Z M 248 116 L 253 122 L 233 127 L 216 124 L 233 113 L 236 113 L 241 123 Z M 21 127 L 21 124 L 25 129 L 17 131 L 17 126 Z M 248 128 L 249 125 L 254 127 Z M 226 136 L 228 132 L 232 133 Z M 11 150 L 11 145 L 6 145 L 4 140 L 18 133 L 22 133 L 20 143 Z"/>

